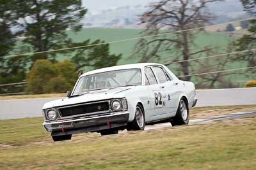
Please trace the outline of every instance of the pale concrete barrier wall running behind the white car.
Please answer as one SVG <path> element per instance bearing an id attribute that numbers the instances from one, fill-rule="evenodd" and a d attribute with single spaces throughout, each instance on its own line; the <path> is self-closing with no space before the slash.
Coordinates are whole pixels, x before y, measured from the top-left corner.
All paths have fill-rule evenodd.
<path id="1" fill-rule="evenodd" d="M 256 87 L 196 90 L 196 97 L 198 97 L 196 107 L 256 104 L 255 96 Z M 0 100 L 0 120 L 42 117 L 42 106 L 49 101 L 61 98 Z"/>

